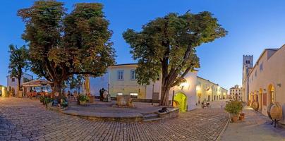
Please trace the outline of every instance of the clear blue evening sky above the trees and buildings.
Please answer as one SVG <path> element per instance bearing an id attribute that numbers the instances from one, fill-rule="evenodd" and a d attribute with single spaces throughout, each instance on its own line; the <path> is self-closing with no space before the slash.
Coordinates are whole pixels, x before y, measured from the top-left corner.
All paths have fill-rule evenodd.
<path id="1" fill-rule="evenodd" d="M 63 0 L 61 0 L 63 1 Z M 285 44 L 285 1 L 277 0 L 65 0 L 71 10 L 78 2 L 100 2 L 111 23 L 114 35 L 111 41 L 116 49 L 117 63 L 134 63 L 130 48 L 123 40 L 127 28 L 140 30 L 148 21 L 167 13 L 193 13 L 210 11 L 229 35 L 198 47 L 200 65 L 198 75 L 222 87 L 241 85 L 242 56 L 254 55 L 254 60 L 265 48 L 279 48 Z M 21 34 L 25 29 L 16 16 L 18 9 L 33 4 L 32 0 L 9 0 L 0 2 L 0 85 L 6 85 L 8 75 L 8 45 L 25 44 Z"/>

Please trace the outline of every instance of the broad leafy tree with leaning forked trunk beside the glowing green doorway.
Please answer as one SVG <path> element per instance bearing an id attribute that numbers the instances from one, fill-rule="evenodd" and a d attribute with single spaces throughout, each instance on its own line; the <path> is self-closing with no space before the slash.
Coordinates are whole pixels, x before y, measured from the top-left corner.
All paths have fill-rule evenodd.
<path id="1" fill-rule="evenodd" d="M 225 35 L 217 18 L 205 11 L 169 13 L 143 25 L 140 32 L 126 30 L 123 38 L 138 60 L 138 83 L 150 84 L 162 77 L 160 105 L 168 105 L 171 87 L 185 82 L 186 74 L 200 67 L 195 48 Z"/>

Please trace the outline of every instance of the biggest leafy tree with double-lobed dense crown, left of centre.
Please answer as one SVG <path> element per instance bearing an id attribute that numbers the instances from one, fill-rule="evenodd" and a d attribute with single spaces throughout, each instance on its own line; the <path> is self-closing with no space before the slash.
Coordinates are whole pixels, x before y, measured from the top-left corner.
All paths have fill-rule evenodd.
<path id="1" fill-rule="evenodd" d="M 73 75 L 103 75 L 113 65 L 115 51 L 102 4 L 75 4 L 66 13 L 58 1 L 35 1 L 18 11 L 25 22 L 23 39 L 30 47 L 31 70 L 54 82 L 61 92 Z"/>

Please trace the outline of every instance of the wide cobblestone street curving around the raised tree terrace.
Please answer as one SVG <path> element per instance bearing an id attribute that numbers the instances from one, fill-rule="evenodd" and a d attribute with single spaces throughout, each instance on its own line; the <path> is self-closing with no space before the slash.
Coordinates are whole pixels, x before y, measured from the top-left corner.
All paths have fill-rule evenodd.
<path id="1" fill-rule="evenodd" d="M 151 123 L 88 121 L 30 99 L 0 98 L 0 140 L 215 140 L 228 114 L 196 109 Z"/>

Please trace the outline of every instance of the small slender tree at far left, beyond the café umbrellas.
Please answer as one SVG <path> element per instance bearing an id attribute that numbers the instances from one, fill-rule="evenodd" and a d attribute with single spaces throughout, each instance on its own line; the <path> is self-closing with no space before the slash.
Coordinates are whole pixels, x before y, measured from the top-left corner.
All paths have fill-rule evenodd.
<path id="1" fill-rule="evenodd" d="M 20 48 L 11 44 L 9 46 L 10 53 L 10 63 L 9 70 L 10 77 L 15 77 L 18 79 L 18 90 L 22 90 L 22 86 L 20 84 L 20 80 L 22 78 L 23 73 L 28 70 L 29 61 L 28 61 L 28 49 L 25 46 Z"/>

